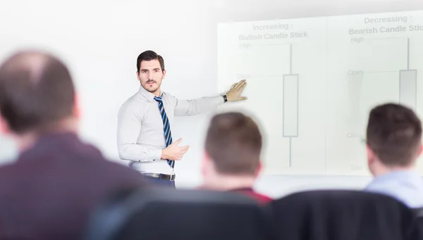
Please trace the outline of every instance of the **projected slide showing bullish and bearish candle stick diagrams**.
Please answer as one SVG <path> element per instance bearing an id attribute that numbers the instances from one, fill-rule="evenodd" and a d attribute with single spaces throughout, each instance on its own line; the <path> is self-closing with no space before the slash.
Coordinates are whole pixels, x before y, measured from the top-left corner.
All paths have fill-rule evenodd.
<path id="1" fill-rule="evenodd" d="M 267 174 L 368 175 L 369 110 L 423 110 L 420 42 L 423 11 L 219 24 L 219 91 L 248 97 L 221 110 L 259 121 Z"/>

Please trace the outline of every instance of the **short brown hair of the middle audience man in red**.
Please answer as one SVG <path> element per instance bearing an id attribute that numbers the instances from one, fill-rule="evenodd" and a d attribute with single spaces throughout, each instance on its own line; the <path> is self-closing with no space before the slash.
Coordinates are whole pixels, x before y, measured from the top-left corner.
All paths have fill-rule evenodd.
<path id="1" fill-rule="evenodd" d="M 243 113 L 220 113 L 210 122 L 205 149 L 221 174 L 254 175 L 260 163 L 262 134 L 257 123 Z"/>

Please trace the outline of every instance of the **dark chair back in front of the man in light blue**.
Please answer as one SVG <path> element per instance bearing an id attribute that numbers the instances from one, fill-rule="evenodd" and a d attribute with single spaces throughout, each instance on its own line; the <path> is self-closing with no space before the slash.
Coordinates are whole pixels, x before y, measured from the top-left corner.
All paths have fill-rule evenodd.
<path id="1" fill-rule="evenodd" d="M 267 207 L 283 240 L 405 240 L 413 218 L 396 199 L 364 191 L 303 191 Z"/>

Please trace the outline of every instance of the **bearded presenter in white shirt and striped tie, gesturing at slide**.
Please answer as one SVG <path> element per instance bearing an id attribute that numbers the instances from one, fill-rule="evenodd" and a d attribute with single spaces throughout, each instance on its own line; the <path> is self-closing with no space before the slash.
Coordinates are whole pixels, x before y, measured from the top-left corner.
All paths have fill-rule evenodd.
<path id="1" fill-rule="evenodd" d="M 180 160 L 189 146 L 173 141 L 171 127 L 174 116 L 188 116 L 212 110 L 226 101 L 242 101 L 245 80 L 233 84 L 223 96 L 178 100 L 161 91 L 166 75 L 164 60 L 154 51 L 145 51 L 137 58 L 137 79 L 140 89 L 131 96 L 118 113 L 118 153 L 129 166 L 153 181 L 175 187 L 175 161 Z"/>

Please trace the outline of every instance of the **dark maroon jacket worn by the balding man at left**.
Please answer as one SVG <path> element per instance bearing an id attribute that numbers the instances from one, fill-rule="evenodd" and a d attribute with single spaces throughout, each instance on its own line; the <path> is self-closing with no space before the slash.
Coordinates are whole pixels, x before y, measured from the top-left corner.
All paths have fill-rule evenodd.
<path id="1" fill-rule="evenodd" d="M 75 134 L 49 134 L 0 168 L 0 239 L 80 239 L 90 211 L 142 176 Z"/>

